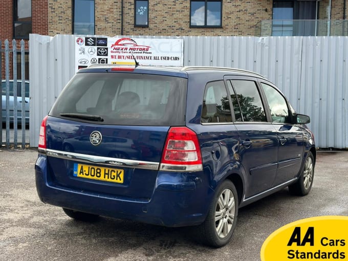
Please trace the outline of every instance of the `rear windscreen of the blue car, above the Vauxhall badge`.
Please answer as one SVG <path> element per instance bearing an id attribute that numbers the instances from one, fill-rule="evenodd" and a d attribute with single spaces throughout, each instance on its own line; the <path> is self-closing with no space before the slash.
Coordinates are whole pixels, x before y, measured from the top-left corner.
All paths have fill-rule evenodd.
<path id="1" fill-rule="evenodd" d="M 135 73 L 78 73 L 49 115 L 98 124 L 179 126 L 185 123 L 187 79 Z M 74 116 L 76 115 L 76 117 Z M 67 118 L 67 119 L 68 119 Z"/>

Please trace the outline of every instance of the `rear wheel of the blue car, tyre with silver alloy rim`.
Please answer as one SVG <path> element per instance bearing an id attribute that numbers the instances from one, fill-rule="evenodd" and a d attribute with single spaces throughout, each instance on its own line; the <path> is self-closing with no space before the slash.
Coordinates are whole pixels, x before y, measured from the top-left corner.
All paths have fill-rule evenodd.
<path id="1" fill-rule="evenodd" d="M 205 221 L 197 226 L 199 241 L 222 247 L 232 237 L 238 215 L 238 196 L 234 184 L 225 180 L 216 190 Z"/>

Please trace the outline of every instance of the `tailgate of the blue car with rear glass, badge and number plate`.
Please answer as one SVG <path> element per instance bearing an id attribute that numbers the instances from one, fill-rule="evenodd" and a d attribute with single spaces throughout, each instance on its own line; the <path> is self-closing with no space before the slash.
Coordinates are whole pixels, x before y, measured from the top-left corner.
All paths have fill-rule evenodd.
<path id="1" fill-rule="evenodd" d="M 149 200 L 168 129 L 184 125 L 186 88 L 179 77 L 76 74 L 47 119 L 51 184 Z"/>

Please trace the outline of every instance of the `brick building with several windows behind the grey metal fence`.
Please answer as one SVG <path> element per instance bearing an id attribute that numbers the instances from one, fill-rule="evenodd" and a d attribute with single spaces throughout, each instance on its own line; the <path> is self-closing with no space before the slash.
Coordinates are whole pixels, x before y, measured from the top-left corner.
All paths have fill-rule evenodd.
<path id="1" fill-rule="evenodd" d="M 3 49 L 13 38 L 28 47 L 29 33 L 348 35 L 347 12 L 346 0 L 2 0 L 0 40 Z"/>

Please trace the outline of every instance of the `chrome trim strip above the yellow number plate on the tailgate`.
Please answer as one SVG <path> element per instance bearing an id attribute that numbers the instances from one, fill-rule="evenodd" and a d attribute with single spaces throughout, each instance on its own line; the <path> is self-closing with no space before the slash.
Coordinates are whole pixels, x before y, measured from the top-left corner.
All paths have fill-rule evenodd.
<path id="1" fill-rule="evenodd" d="M 88 163 L 99 163 L 99 164 L 104 164 L 104 165 L 109 165 L 114 167 L 122 166 L 126 168 L 141 168 L 141 169 L 158 170 L 160 165 L 160 163 L 158 162 L 100 157 L 100 156 L 93 156 L 93 155 L 71 153 L 67 151 L 60 151 L 60 150 L 54 150 L 54 149 L 46 149 L 46 153 L 44 152 L 44 150 L 39 150 L 39 153 L 46 154 L 47 156 L 50 156 L 50 157 L 64 159 L 64 160 L 77 160 L 77 161 L 88 162 Z"/>

